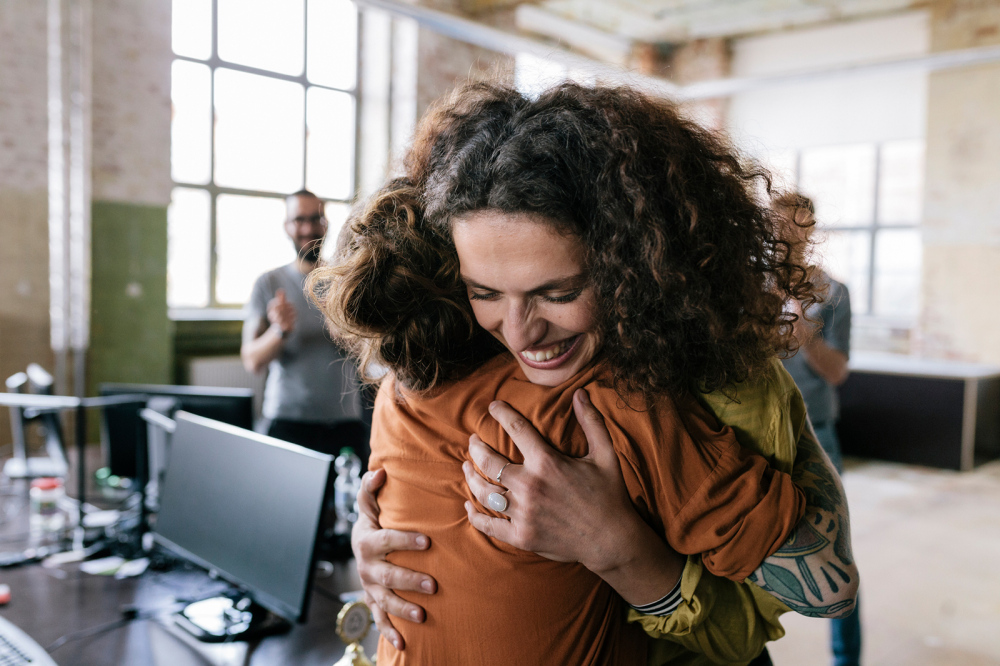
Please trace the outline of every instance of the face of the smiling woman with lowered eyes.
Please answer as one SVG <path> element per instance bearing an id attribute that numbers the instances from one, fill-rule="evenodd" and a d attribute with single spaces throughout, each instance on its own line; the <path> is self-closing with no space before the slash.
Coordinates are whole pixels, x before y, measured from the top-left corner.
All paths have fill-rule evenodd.
<path id="1" fill-rule="evenodd" d="M 492 210 L 462 216 L 452 236 L 476 320 L 529 381 L 558 386 L 594 358 L 594 290 L 578 238 L 541 215 Z"/>

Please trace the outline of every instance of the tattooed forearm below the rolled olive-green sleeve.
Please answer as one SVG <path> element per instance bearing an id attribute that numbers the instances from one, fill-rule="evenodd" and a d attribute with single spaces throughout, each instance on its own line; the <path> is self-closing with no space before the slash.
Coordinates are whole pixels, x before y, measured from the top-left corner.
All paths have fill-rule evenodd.
<path id="1" fill-rule="evenodd" d="M 858 570 L 844 490 L 811 426 L 799 439 L 792 478 L 805 493 L 805 515 L 749 580 L 803 615 L 841 617 L 854 608 Z"/>

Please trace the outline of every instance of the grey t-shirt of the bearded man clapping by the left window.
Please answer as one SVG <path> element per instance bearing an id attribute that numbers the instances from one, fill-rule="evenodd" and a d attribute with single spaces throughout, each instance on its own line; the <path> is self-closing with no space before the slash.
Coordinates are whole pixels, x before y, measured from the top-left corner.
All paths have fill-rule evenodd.
<path id="1" fill-rule="evenodd" d="M 264 273 L 247 304 L 246 327 L 256 332 L 267 321 L 267 304 L 278 289 L 295 307 L 295 329 L 268 366 L 264 386 L 265 418 L 334 423 L 361 416 L 361 395 L 354 364 L 330 339 L 323 314 L 306 298 L 306 276 L 295 263 Z"/>

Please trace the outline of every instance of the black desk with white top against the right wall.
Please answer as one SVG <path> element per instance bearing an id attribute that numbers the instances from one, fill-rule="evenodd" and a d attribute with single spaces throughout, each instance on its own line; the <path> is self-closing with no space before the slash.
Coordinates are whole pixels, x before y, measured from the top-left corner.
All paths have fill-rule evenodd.
<path id="1" fill-rule="evenodd" d="M 862 352 L 850 368 L 844 453 L 957 470 L 1000 457 L 1000 368 Z"/>

